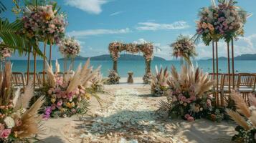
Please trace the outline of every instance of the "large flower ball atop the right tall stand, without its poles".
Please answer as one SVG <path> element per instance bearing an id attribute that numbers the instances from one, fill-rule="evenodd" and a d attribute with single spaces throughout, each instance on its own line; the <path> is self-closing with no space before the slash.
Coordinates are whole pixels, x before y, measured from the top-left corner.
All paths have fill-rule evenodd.
<path id="1" fill-rule="evenodd" d="M 196 34 L 202 36 L 204 44 L 210 41 L 224 39 L 229 42 L 232 38 L 243 36 L 244 25 L 250 16 L 241 9 L 234 0 L 219 0 L 216 5 L 212 0 L 212 6 L 204 7 L 199 11 L 200 20 L 196 21 Z"/>

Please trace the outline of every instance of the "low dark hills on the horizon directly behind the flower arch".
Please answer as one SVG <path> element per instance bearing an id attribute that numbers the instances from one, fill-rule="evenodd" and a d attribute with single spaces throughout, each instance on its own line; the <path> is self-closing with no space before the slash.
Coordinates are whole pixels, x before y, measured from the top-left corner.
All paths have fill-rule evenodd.
<path id="1" fill-rule="evenodd" d="M 75 61 L 83 61 L 83 60 L 87 60 L 88 57 L 82 57 L 82 56 L 77 56 L 75 57 Z M 59 60 L 64 60 L 59 59 Z M 91 61 L 112 61 L 112 58 L 109 54 L 103 54 L 100 56 L 93 56 L 90 57 Z M 133 55 L 133 54 L 120 54 L 120 57 L 118 58 L 118 61 L 144 61 L 144 57 L 141 55 Z M 166 59 L 163 59 L 161 57 L 158 56 L 154 56 L 153 57 L 153 61 L 166 61 Z"/>

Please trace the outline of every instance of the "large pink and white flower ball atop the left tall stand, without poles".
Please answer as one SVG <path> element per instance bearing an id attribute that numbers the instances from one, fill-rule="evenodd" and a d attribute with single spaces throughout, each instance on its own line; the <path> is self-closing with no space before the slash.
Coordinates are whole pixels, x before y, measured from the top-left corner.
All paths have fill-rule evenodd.
<path id="1" fill-rule="evenodd" d="M 22 33 L 30 39 L 36 38 L 43 41 L 59 44 L 65 36 L 65 16 L 58 14 L 60 9 L 57 3 L 46 6 L 26 6 L 22 21 L 24 29 Z"/>

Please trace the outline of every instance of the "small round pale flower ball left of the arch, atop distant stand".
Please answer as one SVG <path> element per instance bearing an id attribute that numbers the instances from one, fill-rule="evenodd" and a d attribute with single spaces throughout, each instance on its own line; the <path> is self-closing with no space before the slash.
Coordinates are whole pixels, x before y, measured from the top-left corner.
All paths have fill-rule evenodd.
<path id="1" fill-rule="evenodd" d="M 75 57 L 80 53 L 80 44 L 74 38 L 65 38 L 59 49 L 64 56 Z"/>

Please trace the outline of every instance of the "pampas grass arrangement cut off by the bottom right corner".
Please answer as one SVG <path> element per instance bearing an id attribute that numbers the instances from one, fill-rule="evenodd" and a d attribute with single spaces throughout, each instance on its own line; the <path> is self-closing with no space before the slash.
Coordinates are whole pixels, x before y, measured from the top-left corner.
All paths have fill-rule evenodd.
<path id="1" fill-rule="evenodd" d="M 256 98 L 250 95 L 250 107 L 247 106 L 242 97 L 237 93 L 232 93 L 237 112 L 226 109 L 227 114 L 238 124 L 235 130 L 238 134 L 232 137 L 234 142 L 255 143 L 256 142 Z M 242 116 L 240 115 L 242 114 Z"/>

